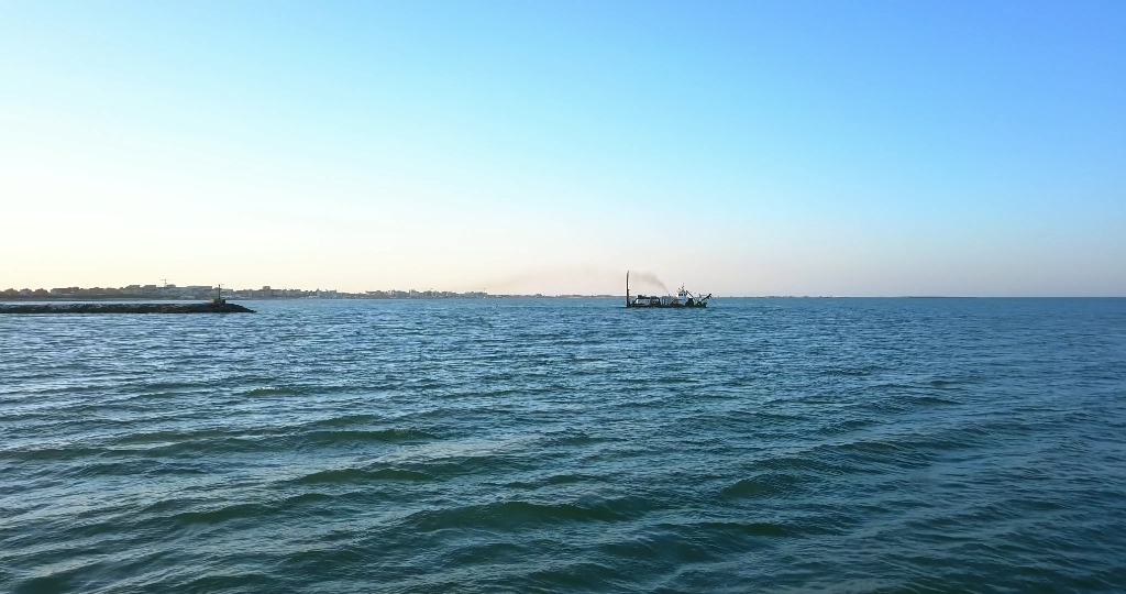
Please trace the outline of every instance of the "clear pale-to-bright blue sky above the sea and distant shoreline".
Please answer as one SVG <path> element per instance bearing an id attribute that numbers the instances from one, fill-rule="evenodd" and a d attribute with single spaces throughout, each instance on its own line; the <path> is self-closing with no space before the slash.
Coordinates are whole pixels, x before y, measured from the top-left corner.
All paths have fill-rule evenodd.
<path id="1" fill-rule="evenodd" d="M 0 2 L 0 290 L 627 269 L 1126 295 L 1126 3 Z"/>

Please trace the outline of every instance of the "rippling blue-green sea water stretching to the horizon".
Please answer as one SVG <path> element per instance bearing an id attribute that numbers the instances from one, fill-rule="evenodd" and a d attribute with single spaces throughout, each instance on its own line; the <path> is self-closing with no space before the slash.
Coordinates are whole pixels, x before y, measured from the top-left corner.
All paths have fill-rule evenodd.
<path id="1" fill-rule="evenodd" d="M 0 591 L 1126 591 L 1126 300 L 247 304 L 0 316 Z"/>

